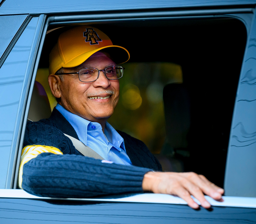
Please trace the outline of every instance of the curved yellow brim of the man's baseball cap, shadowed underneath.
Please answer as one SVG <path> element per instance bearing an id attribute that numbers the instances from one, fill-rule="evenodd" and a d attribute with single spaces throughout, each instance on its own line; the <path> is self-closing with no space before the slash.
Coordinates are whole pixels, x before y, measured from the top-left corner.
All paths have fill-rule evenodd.
<path id="1" fill-rule="evenodd" d="M 122 64 L 130 59 L 130 54 L 124 47 L 117 46 L 117 45 L 109 45 L 109 46 L 101 47 L 101 48 L 80 54 L 80 55 L 76 56 L 75 58 L 66 62 L 62 67 L 63 68 L 72 68 L 72 67 L 81 65 L 85 60 L 87 60 L 90 56 L 92 56 L 92 54 L 94 54 L 100 50 L 103 50 L 103 49 L 106 49 L 104 51 L 108 52 L 110 54 L 111 59 L 116 64 Z"/>

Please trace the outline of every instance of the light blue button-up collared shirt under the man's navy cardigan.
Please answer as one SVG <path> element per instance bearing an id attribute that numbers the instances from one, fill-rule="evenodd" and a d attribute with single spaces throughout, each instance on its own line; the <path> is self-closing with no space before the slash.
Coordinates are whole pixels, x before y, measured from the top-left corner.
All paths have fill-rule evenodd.
<path id="1" fill-rule="evenodd" d="M 79 140 L 83 142 L 84 145 L 92 148 L 105 160 L 112 161 L 116 164 L 132 164 L 126 154 L 124 139 L 108 122 L 105 124 L 104 135 L 99 123 L 91 122 L 78 115 L 72 114 L 60 106 L 60 104 L 57 104 L 56 109 L 60 111 L 73 126 Z"/>

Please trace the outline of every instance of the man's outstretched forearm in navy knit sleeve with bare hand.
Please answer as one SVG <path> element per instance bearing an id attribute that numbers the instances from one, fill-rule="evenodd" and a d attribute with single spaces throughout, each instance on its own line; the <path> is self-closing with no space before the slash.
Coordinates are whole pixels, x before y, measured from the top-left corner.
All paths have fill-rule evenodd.
<path id="1" fill-rule="evenodd" d="M 59 198 L 152 191 L 178 195 L 192 208 L 198 205 L 190 195 L 208 208 L 210 204 L 204 194 L 219 200 L 224 192 L 193 172 L 151 171 L 137 166 L 101 163 L 85 156 L 42 153 L 24 164 L 22 188 L 37 196 Z"/>

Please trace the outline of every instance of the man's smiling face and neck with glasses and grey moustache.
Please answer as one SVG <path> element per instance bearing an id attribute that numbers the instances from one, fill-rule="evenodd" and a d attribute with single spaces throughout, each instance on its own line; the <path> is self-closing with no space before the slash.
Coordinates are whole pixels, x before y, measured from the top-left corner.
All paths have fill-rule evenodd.
<path id="1" fill-rule="evenodd" d="M 105 52 L 96 52 L 75 68 L 61 68 L 62 82 L 50 75 L 48 80 L 59 104 L 86 120 L 98 122 L 104 132 L 119 99 L 119 78 L 123 68 L 116 66 Z M 65 76 L 65 82 L 64 77 Z M 76 86 L 76 88 L 70 88 Z M 67 91 L 69 89 L 69 91 Z"/>

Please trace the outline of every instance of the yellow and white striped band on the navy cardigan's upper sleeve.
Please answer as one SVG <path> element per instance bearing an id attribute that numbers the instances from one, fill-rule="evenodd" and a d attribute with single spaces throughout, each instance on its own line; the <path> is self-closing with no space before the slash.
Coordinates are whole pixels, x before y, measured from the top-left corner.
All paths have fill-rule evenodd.
<path id="1" fill-rule="evenodd" d="M 32 145 L 26 146 L 21 151 L 21 158 L 20 158 L 20 170 L 19 170 L 19 187 L 22 189 L 22 174 L 23 174 L 23 166 L 29 160 L 35 158 L 41 153 L 50 152 L 53 154 L 63 155 L 60 149 L 52 147 L 52 146 L 42 146 L 42 145 Z"/>

